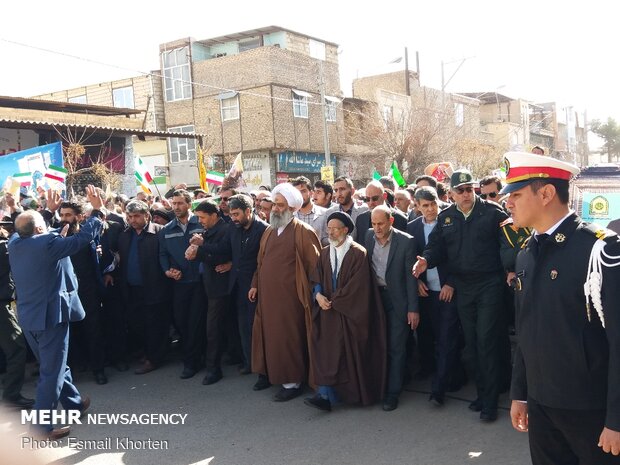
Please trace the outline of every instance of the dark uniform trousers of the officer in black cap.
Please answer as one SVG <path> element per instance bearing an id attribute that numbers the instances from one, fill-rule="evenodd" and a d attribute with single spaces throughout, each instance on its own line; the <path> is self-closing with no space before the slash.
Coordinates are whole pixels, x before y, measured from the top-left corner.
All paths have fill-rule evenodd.
<path id="1" fill-rule="evenodd" d="M 484 408 L 497 408 L 501 384 L 501 341 L 508 337 L 503 317 L 503 275 L 459 277 L 457 307 L 465 349 L 463 361 L 476 380 Z"/>

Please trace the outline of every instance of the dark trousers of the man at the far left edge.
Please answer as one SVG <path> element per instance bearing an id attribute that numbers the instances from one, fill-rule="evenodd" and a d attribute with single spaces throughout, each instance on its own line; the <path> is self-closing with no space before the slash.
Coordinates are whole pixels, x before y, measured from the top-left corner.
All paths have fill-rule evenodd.
<path id="1" fill-rule="evenodd" d="M 3 399 L 20 396 L 26 367 L 26 339 L 17 324 L 10 301 L 0 301 L 0 348 L 6 357 Z"/>

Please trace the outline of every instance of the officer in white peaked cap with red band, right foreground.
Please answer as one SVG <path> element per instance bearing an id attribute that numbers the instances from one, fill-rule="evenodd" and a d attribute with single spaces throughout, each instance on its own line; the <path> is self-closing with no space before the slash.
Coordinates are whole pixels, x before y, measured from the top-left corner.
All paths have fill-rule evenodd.
<path id="1" fill-rule="evenodd" d="M 569 209 L 579 168 L 509 152 L 506 203 L 532 227 L 516 262 L 511 418 L 534 465 L 620 464 L 620 241 Z"/>

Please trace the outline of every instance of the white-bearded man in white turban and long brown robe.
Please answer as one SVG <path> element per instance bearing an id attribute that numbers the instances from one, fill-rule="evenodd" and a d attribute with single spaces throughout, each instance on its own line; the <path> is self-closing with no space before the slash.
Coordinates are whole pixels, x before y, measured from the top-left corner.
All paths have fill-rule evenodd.
<path id="1" fill-rule="evenodd" d="M 258 267 L 248 293 L 258 301 L 252 328 L 252 371 L 281 384 L 276 402 L 302 393 L 308 374 L 312 289 L 321 245 L 311 226 L 294 217 L 303 198 L 289 183 L 272 192 L 270 227 L 261 238 Z"/>

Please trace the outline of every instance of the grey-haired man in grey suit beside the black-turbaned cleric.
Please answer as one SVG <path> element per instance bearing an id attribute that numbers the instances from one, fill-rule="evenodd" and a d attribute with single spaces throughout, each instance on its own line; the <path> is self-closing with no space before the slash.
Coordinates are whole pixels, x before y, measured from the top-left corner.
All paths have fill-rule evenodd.
<path id="1" fill-rule="evenodd" d="M 366 234 L 365 246 L 386 314 L 388 379 L 383 410 L 390 411 L 398 407 L 403 387 L 407 337 L 420 321 L 418 282 L 410 272 L 415 245 L 413 237 L 394 229 L 389 207 L 375 207 L 371 220 L 372 230 Z"/>

